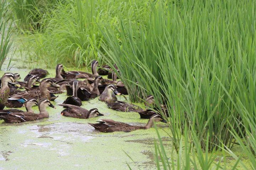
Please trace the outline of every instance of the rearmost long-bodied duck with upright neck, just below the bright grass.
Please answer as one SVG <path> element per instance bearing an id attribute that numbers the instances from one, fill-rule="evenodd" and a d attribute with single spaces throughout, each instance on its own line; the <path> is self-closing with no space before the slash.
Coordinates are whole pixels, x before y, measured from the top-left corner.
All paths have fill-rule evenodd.
<path id="1" fill-rule="evenodd" d="M 62 77 L 65 79 L 86 79 L 91 77 L 97 77 L 99 74 L 97 73 L 98 61 L 93 60 L 91 62 L 92 74 L 80 71 L 69 71 L 63 72 Z"/>

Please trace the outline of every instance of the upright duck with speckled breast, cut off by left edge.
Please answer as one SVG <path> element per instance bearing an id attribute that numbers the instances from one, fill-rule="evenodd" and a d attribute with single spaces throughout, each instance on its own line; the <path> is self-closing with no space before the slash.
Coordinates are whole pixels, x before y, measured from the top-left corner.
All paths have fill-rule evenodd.
<path id="1" fill-rule="evenodd" d="M 8 86 L 8 82 L 14 83 L 17 87 L 20 85 L 17 83 L 17 80 L 12 73 L 5 73 L 1 79 L 1 89 L 0 89 L 0 110 L 4 109 L 7 104 L 8 97 L 10 95 L 10 87 Z"/>

